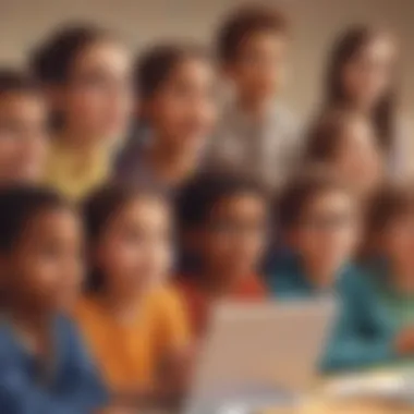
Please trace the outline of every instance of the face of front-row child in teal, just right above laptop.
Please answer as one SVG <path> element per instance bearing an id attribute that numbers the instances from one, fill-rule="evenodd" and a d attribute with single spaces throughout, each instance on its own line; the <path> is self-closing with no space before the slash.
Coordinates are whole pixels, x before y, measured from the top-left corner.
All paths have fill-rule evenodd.
<path id="1" fill-rule="evenodd" d="M 358 239 L 355 205 L 341 191 L 315 195 L 292 231 L 299 254 L 309 266 L 337 272 L 352 256 Z"/>

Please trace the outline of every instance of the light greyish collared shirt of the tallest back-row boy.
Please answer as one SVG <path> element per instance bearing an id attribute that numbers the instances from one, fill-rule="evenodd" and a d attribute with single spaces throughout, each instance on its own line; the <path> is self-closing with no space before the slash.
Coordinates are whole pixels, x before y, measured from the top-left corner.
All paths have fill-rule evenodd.
<path id="1" fill-rule="evenodd" d="M 272 105 L 261 122 L 230 106 L 209 147 L 207 166 L 251 175 L 278 188 L 296 167 L 301 147 L 299 123 L 282 105 Z"/>

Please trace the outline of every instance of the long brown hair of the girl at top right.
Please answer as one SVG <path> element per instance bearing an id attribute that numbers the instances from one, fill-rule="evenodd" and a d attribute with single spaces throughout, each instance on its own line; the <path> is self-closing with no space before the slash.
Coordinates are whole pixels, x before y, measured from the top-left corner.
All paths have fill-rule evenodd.
<path id="1" fill-rule="evenodd" d="M 326 73 L 326 108 L 348 106 L 350 97 L 346 96 L 342 81 L 344 66 L 357 58 L 366 45 L 382 36 L 367 26 L 354 26 L 344 32 L 336 41 Z M 392 146 L 392 133 L 394 129 L 395 92 L 389 90 L 377 102 L 373 122 L 378 133 L 379 143 L 385 149 Z"/>

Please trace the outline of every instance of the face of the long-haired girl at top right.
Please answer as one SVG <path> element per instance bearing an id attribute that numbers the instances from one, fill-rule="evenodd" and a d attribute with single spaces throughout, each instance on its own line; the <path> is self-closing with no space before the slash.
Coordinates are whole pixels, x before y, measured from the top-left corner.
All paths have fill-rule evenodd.
<path id="1" fill-rule="evenodd" d="M 342 83 L 356 105 L 372 108 L 391 88 L 394 76 L 395 46 L 390 38 L 378 37 L 344 66 Z"/>

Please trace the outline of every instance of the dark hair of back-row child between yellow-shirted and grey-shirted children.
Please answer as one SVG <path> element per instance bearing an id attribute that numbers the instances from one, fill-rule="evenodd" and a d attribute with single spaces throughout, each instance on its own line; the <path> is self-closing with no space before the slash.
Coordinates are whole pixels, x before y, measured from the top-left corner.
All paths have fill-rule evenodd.
<path id="1" fill-rule="evenodd" d="M 168 81 L 175 68 L 186 59 L 208 59 L 208 53 L 198 45 L 161 44 L 138 57 L 135 64 L 135 93 L 146 100 Z"/>

